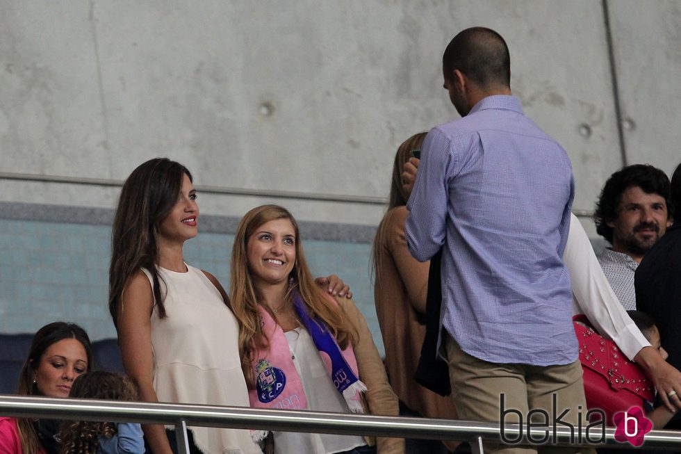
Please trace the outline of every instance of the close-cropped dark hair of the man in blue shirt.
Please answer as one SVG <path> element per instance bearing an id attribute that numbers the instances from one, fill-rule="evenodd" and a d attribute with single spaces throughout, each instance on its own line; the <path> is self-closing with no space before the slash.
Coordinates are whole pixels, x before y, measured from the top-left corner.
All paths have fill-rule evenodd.
<path id="1" fill-rule="evenodd" d="M 445 77 L 459 70 L 482 88 L 511 85 L 511 56 L 501 35 L 484 27 L 461 31 L 442 57 Z"/>

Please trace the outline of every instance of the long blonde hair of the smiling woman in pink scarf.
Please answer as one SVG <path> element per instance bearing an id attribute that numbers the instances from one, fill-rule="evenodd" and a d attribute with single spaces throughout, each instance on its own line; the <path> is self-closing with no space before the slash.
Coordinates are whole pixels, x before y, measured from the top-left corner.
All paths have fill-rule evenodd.
<path id="1" fill-rule="evenodd" d="M 342 349 L 348 344 L 356 343 L 356 333 L 346 323 L 341 307 L 331 302 L 315 284 L 303 254 L 300 229 L 291 213 L 277 205 L 258 206 L 246 213 L 239 223 L 231 250 L 231 307 L 239 321 L 241 367 L 249 387 L 254 387 L 255 383 L 252 353 L 268 348 L 269 340 L 265 338 L 260 323 L 258 309 L 260 298 L 253 284 L 252 270 L 248 263 L 248 241 L 259 227 L 277 219 L 289 220 L 295 231 L 295 264 L 289 275 L 291 288 L 287 298 L 291 298 L 291 291 L 296 289 L 309 315 L 327 325 Z"/>

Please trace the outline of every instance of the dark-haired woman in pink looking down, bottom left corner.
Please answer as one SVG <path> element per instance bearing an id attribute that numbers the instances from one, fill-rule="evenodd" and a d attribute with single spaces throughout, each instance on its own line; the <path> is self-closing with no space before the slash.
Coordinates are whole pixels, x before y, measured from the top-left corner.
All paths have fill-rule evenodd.
<path id="1" fill-rule="evenodd" d="M 90 371 L 93 362 L 92 343 L 83 328 L 49 323 L 33 336 L 17 394 L 68 397 L 76 377 Z M 59 453 L 59 425 L 52 419 L 0 417 L 0 453 Z"/>

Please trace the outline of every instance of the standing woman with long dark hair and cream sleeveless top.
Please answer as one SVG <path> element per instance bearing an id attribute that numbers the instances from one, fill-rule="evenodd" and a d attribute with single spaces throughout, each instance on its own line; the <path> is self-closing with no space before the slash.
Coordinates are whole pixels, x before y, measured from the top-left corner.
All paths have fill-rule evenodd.
<path id="1" fill-rule="evenodd" d="M 183 259 L 184 242 L 197 235 L 196 198 L 191 173 L 170 159 L 142 163 L 126 179 L 113 222 L 109 311 L 140 400 L 245 406 L 227 295 Z M 171 430 L 142 428 L 154 454 L 172 452 Z M 247 430 L 190 432 L 194 452 L 260 452 Z"/>

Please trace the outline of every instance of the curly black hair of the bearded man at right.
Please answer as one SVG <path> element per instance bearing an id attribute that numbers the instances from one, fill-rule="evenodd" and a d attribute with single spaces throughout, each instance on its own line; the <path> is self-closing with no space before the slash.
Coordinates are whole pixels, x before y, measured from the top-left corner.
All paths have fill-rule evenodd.
<path id="1" fill-rule="evenodd" d="M 657 194 L 664 198 L 667 205 L 667 215 L 673 217 L 673 206 L 669 200 L 669 179 L 666 173 L 650 164 L 634 164 L 621 168 L 605 181 L 600 191 L 596 213 L 596 232 L 612 244 L 613 228 L 607 225 L 617 219 L 622 194 L 628 188 L 638 186 L 646 194 Z"/>

